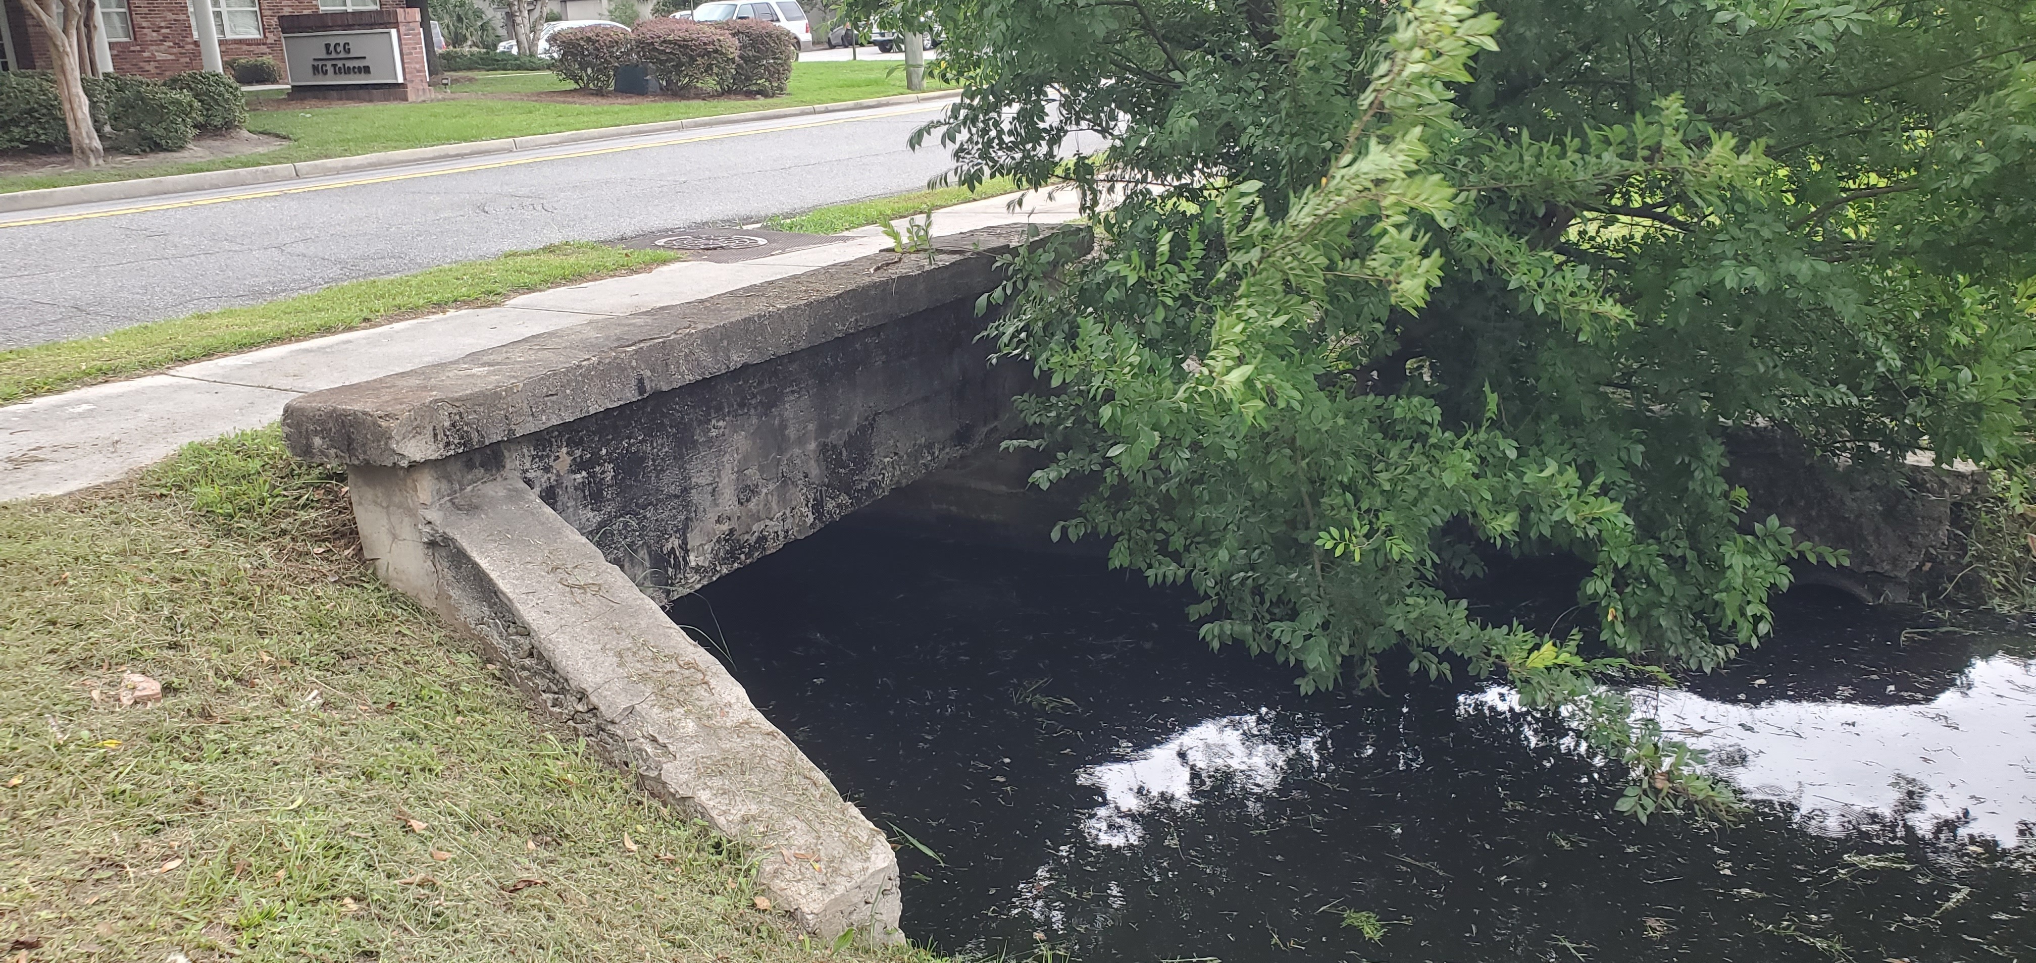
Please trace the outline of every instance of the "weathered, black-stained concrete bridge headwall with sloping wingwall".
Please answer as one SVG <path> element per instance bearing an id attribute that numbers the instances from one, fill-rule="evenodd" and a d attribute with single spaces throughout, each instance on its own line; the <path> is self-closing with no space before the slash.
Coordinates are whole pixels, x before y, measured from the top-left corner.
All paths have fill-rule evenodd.
<path id="1" fill-rule="evenodd" d="M 977 450 L 1024 366 L 977 301 L 1014 228 L 566 328 L 283 413 L 348 466 L 377 572 L 662 798 L 766 855 L 794 924 L 898 939 L 882 833 L 645 597 L 686 592 Z"/>

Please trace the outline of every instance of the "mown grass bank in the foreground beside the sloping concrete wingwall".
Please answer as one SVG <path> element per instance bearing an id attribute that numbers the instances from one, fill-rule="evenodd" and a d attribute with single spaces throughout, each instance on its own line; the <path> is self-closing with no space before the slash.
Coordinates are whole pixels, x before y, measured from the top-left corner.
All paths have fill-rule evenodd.
<path id="1" fill-rule="evenodd" d="M 0 643 L 10 961 L 812 959 L 741 851 L 383 588 L 273 428 L 0 505 Z"/>

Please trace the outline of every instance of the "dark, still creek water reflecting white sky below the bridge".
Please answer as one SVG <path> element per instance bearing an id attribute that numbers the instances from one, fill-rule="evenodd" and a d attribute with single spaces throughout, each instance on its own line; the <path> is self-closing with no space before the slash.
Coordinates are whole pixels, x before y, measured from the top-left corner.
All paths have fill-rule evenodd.
<path id="1" fill-rule="evenodd" d="M 1753 812 L 1641 827 L 1503 688 L 1299 696 L 1093 560 L 823 531 L 702 594 L 674 617 L 902 845 L 906 932 L 947 953 L 2036 961 L 2022 633 L 1786 601 L 1657 706 Z"/>

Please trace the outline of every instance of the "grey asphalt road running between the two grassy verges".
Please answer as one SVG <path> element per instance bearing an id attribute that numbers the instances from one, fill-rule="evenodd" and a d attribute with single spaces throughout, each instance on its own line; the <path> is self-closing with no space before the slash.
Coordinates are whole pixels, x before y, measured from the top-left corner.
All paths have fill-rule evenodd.
<path id="1" fill-rule="evenodd" d="M 821 114 L 550 151 L 568 157 L 472 157 L 320 181 L 0 214 L 0 348 L 104 334 L 558 240 L 751 224 L 770 214 L 920 189 L 951 161 L 939 149 L 906 149 L 906 136 L 943 106 Z M 678 138 L 688 143 L 670 143 Z M 275 195 L 279 187 L 293 193 Z M 165 204 L 183 206 L 134 210 Z M 75 220 L 8 226 L 53 216 Z"/>

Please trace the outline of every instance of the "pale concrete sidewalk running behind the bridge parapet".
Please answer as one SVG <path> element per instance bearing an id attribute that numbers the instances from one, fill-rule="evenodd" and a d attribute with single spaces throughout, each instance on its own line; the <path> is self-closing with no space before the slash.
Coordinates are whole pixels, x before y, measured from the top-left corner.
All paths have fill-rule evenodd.
<path id="1" fill-rule="evenodd" d="M 1061 224 L 1077 216 L 1073 191 L 985 197 L 935 212 L 932 234 L 994 224 Z M 0 407 L 0 501 L 61 495 L 120 478 L 189 442 L 261 428 L 307 391 L 379 379 L 460 358 L 574 324 L 601 324 L 652 307 L 698 301 L 814 267 L 886 250 L 882 228 L 755 261 L 680 261 L 613 277 L 358 332 L 202 360 L 163 375 L 116 381 Z"/>

